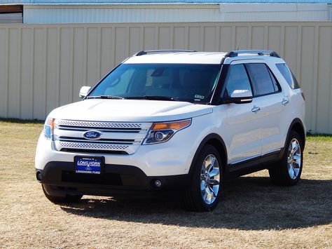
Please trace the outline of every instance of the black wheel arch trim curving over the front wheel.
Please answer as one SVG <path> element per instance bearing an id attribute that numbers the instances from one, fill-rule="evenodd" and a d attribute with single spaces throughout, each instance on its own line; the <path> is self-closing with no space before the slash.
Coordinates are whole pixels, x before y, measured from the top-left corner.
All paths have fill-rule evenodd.
<path id="1" fill-rule="evenodd" d="M 198 159 L 198 156 L 200 155 L 200 152 L 202 151 L 203 147 L 206 144 L 211 144 L 216 148 L 216 150 L 219 152 L 219 156 L 221 157 L 222 160 L 222 166 L 223 170 L 226 170 L 227 166 L 227 150 L 226 150 L 226 145 L 225 142 L 223 142 L 223 139 L 221 138 L 220 135 L 216 133 L 210 133 L 207 135 L 202 142 L 200 142 L 200 145 L 198 146 L 198 149 L 196 149 L 195 155 L 193 156 L 193 161 L 191 161 L 191 168 L 189 169 L 189 175 L 191 175 L 195 162 Z M 224 171 L 225 172 L 225 171 Z"/>

